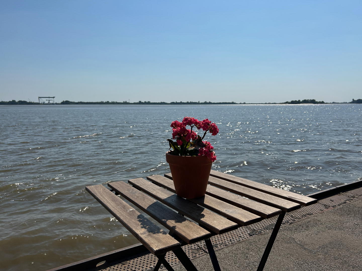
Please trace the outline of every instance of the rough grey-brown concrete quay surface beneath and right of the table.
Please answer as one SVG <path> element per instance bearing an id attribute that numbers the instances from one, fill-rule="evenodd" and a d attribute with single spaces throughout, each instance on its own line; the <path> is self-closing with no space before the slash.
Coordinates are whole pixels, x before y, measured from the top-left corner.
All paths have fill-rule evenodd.
<path id="1" fill-rule="evenodd" d="M 216 251 L 223 271 L 256 271 L 271 231 Z M 209 255 L 193 260 L 199 271 L 212 271 Z M 175 271 L 185 268 L 179 264 Z M 362 270 L 362 199 L 285 225 L 265 264 L 277 270 Z"/>

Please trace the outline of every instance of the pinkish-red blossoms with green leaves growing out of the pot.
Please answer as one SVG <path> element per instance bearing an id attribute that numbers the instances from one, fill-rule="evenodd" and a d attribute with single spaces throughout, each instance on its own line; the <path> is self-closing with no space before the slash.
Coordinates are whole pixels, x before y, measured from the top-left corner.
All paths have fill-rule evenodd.
<path id="1" fill-rule="evenodd" d="M 172 139 L 176 139 L 174 142 L 171 139 L 167 139 L 170 144 L 171 154 L 181 156 L 196 156 L 205 155 L 214 162 L 216 160 L 215 152 L 212 151 L 214 147 L 210 142 L 202 141 L 207 132 L 210 132 L 212 136 L 216 136 L 219 133 L 218 126 L 208 119 L 199 121 L 193 117 L 184 117 L 182 122 L 173 121 L 170 125 L 172 127 Z M 191 129 L 186 129 L 186 126 L 190 126 Z M 204 134 L 200 137 L 192 129 L 202 129 Z"/>

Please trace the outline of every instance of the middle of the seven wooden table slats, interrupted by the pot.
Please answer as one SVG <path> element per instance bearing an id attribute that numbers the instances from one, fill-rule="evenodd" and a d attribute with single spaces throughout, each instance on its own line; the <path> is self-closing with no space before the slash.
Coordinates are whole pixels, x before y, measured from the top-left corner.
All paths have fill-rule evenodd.
<path id="1" fill-rule="evenodd" d="M 152 181 L 153 183 L 160 185 L 172 192 L 175 192 L 175 187 L 173 181 L 169 178 L 163 177 L 161 175 L 153 175 L 148 176 L 148 180 Z M 234 221 L 235 223 L 245 226 L 253 224 L 257 221 L 261 220 L 261 217 L 251 212 L 245 211 L 239 207 L 235 207 L 227 202 L 221 201 L 220 199 L 211 197 L 209 195 L 205 195 L 204 197 L 189 199 L 200 206 L 206 207 L 211 211 L 216 212 L 226 218 Z"/>

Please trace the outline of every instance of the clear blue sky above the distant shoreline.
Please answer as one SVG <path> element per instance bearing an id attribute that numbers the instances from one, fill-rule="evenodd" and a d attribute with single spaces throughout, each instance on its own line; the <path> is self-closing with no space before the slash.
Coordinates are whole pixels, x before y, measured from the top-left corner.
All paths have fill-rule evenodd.
<path id="1" fill-rule="evenodd" d="M 362 98 L 362 1 L 5 1 L 0 100 Z"/>

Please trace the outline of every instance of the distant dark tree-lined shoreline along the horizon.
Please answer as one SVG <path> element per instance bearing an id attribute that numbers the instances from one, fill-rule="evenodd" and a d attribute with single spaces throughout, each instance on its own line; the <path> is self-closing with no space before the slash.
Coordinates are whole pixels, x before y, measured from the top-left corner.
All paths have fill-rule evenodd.
<path id="1" fill-rule="evenodd" d="M 205 105 L 205 104 L 362 104 L 362 99 L 352 99 L 352 102 L 332 102 L 332 103 L 325 103 L 323 101 L 316 101 L 314 99 L 311 100 L 292 100 L 290 102 L 284 102 L 284 103 L 235 103 L 235 102 L 71 102 L 71 101 L 63 101 L 61 103 L 36 103 L 36 102 L 27 102 L 22 100 L 12 100 L 9 102 L 0 101 L 0 105 L 59 105 L 59 104 L 66 104 L 66 105 L 76 105 L 76 104 L 129 104 L 129 105 Z"/>

